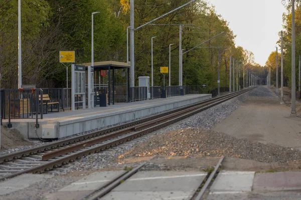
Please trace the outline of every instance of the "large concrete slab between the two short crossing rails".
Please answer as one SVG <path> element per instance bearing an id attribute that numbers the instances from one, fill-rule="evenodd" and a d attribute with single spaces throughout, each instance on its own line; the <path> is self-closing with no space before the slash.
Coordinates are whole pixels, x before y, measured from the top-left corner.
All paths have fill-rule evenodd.
<path id="1" fill-rule="evenodd" d="M 190 199 L 206 172 L 139 171 L 101 199 Z"/>

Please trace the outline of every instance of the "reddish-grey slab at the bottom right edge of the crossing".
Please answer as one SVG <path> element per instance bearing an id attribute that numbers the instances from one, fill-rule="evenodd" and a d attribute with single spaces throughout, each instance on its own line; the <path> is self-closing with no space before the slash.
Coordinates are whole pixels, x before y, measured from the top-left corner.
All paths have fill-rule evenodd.
<path id="1" fill-rule="evenodd" d="M 301 189 L 300 171 L 280 171 L 256 173 L 253 183 L 254 191 L 296 190 Z"/>

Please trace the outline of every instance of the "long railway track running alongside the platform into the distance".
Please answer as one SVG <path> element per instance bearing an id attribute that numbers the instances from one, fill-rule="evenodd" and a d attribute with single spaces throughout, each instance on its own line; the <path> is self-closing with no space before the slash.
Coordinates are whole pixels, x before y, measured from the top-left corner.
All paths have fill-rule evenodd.
<path id="1" fill-rule="evenodd" d="M 172 111 L 124 123 L 88 134 L 0 156 L 0 180 L 23 173 L 42 173 L 92 153 L 122 144 L 192 116 L 253 88 L 212 98 Z"/>

